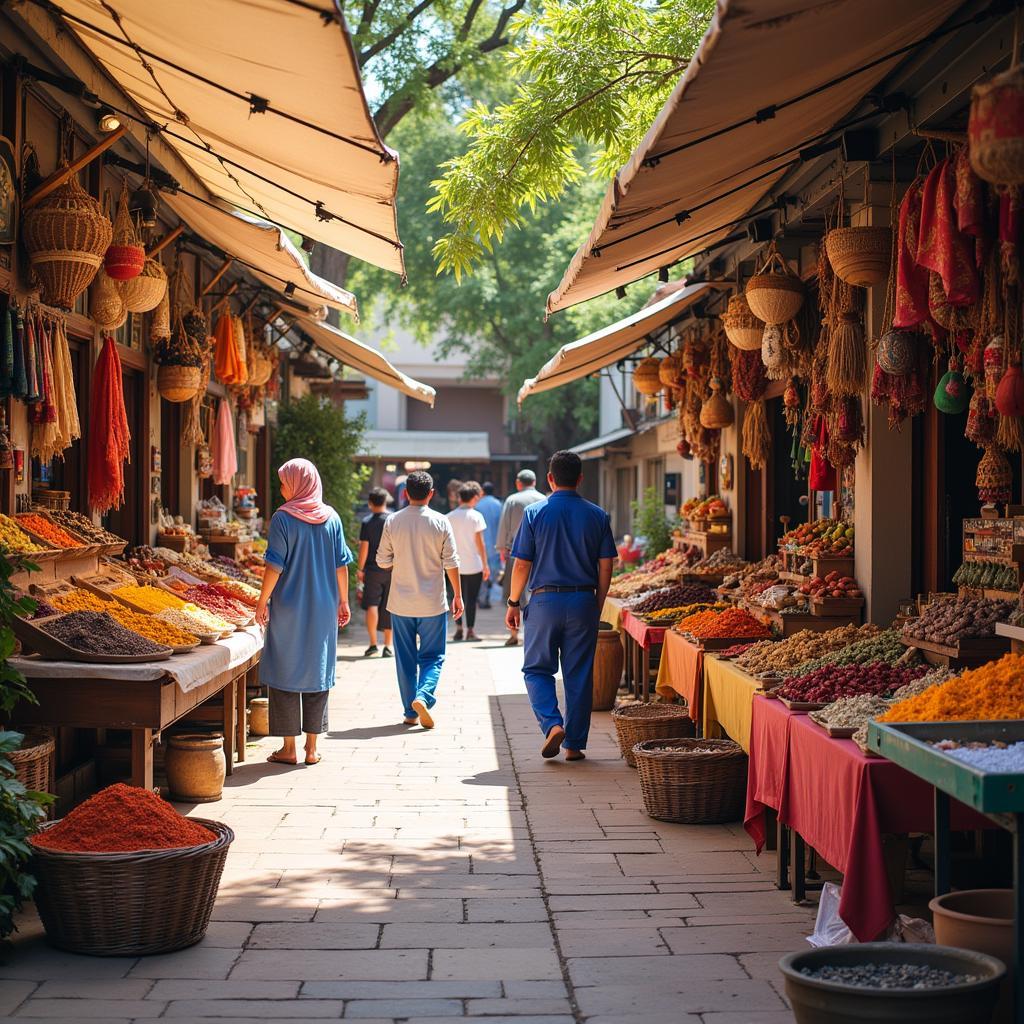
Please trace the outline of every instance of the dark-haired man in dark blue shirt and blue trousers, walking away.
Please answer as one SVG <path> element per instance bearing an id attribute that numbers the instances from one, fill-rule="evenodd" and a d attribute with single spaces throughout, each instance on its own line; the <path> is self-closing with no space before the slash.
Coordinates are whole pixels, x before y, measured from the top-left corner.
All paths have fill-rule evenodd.
<path id="1" fill-rule="evenodd" d="M 583 463 L 574 452 L 556 452 L 548 463 L 551 494 L 530 505 L 512 545 L 512 570 L 505 623 L 523 620 L 522 672 L 534 714 L 544 732 L 541 753 L 582 761 L 590 732 L 594 651 L 600 609 L 611 583 L 615 542 L 608 513 L 577 493 Z M 529 606 L 520 598 L 529 587 Z M 565 718 L 558 708 L 555 674 L 561 662 Z"/>

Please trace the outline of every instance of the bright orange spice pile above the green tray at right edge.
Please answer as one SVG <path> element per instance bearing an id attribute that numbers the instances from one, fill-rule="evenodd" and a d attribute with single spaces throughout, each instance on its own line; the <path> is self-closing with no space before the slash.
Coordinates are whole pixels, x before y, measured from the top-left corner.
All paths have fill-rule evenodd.
<path id="1" fill-rule="evenodd" d="M 969 722 L 1024 718 L 1024 655 L 1007 654 L 901 700 L 880 722 Z"/>

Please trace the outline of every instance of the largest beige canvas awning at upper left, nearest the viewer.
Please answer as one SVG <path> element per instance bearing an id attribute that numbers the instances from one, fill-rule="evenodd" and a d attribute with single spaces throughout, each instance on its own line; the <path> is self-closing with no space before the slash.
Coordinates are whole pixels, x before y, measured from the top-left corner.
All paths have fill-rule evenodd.
<path id="1" fill-rule="evenodd" d="M 334 0 L 47 6 L 214 197 L 404 272 L 397 154 L 377 133 Z"/>

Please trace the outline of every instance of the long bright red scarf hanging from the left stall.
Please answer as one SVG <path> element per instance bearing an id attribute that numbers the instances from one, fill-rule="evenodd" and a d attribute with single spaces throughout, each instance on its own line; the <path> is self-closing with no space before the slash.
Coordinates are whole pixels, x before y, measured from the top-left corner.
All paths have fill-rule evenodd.
<path id="1" fill-rule="evenodd" d="M 110 335 L 96 359 L 89 412 L 89 508 L 103 514 L 124 504 L 124 464 L 131 442 L 121 359 Z"/>

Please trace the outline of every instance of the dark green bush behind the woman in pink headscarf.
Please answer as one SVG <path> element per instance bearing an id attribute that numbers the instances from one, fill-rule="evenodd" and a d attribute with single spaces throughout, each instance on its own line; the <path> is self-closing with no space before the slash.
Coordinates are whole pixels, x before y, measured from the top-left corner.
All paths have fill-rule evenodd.
<path id="1" fill-rule="evenodd" d="M 354 542 L 359 492 L 369 476 L 366 466 L 352 461 L 359 454 L 366 419 L 346 417 L 330 401 L 314 394 L 281 407 L 273 433 L 275 465 L 289 459 L 308 459 L 319 470 L 324 501 L 341 516 L 349 546 Z M 281 481 L 273 473 L 273 503 L 281 504 Z"/>

